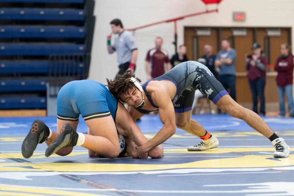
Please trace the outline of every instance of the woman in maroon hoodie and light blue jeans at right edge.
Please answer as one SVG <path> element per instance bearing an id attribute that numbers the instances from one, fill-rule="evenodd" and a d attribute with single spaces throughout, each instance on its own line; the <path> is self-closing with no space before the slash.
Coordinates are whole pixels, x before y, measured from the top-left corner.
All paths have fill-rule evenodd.
<path id="1" fill-rule="evenodd" d="M 277 59 L 275 70 L 278 72 L 277 85 L 279 94 L 280 113 L 278 116 L 285 116 L 284 94 L 288 99 L 289 114 L 294 117 L 294 103 L 292 96 L 293 86 L 293 55 L 289 53 L 290 46 L 281 44 L 281 56 Z"/>

